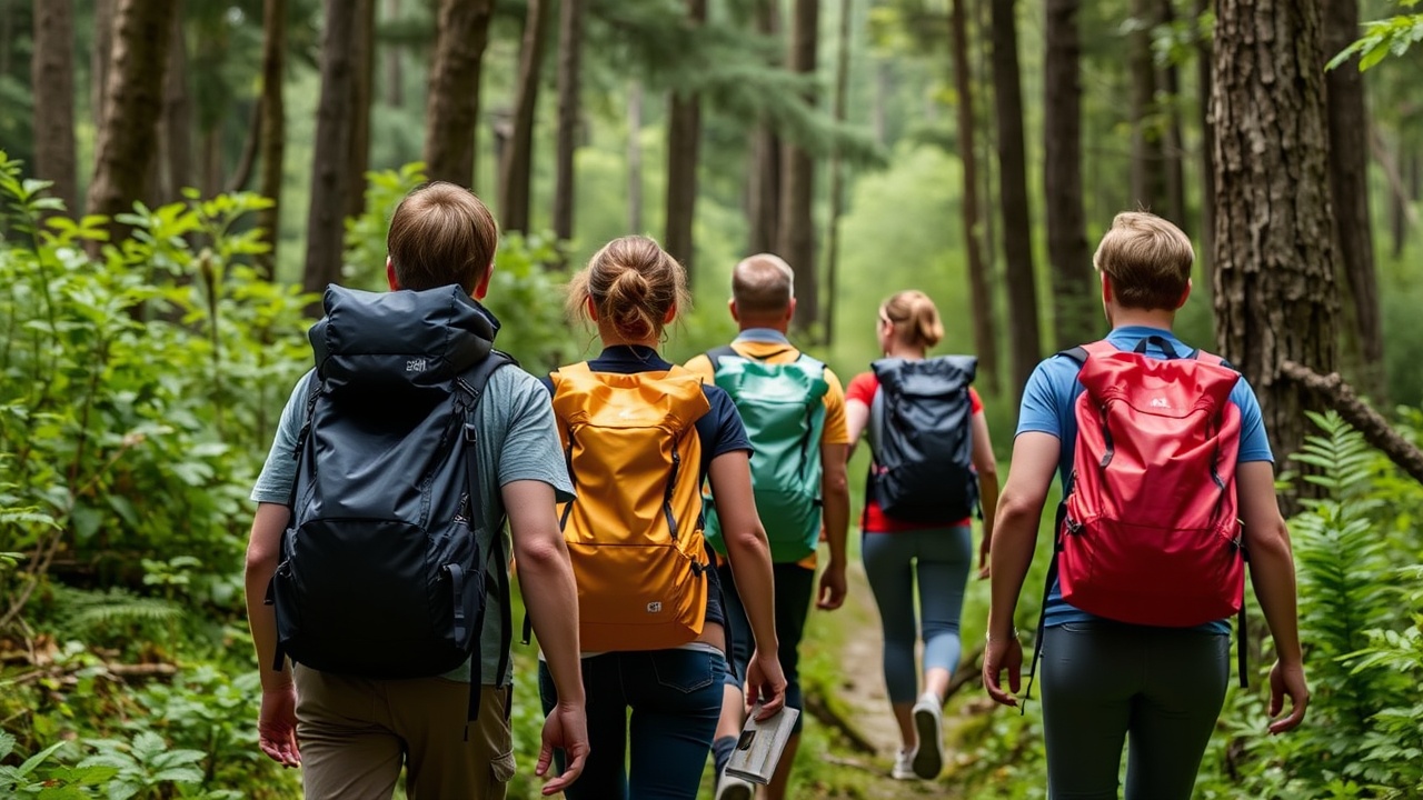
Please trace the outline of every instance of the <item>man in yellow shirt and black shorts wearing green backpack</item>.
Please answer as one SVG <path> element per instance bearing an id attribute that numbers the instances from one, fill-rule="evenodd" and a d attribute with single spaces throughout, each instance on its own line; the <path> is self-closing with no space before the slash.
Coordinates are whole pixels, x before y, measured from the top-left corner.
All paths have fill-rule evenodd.
<path id="1" fill-rule="evenodd" d="M 845 602 L 845 532 L 850 490 L 845 485 L 845 391 L 825 364 L 801 353 L 785 337 L 795 312 L 794 273 L 771 253 L 747 258 L 731 270 L 727 303 L 740 333 L 730 346 L 687 362 L 687 369 L 724 389 L 736 401 L 751 447 L 751 485 L 756 508 L 771 545 L 776 575 L 776 633 L 785 672 L 785 705 L 800 710 L 800 641 L 814 595 L 817 608 Z M 824 512 L 822 512 L 824 511 Z M 727 616 L 736 632 L 726 673 L 721 720 L 712 743 L 717 800 L 751 800 L 754 787 L 723 774 L 746 723 L 741 679 L 751 655 L 746 611 L 736 594 L 736 577 L 726 562 L 720 518 L 713 504 L 707 540 L 717 554 L 717 574 L 727 596 Z M 830 561 L 815 588 L 817 542 L 824 521 Z M 767 786 L 770 800 L 785 797 L 791 763 L 800 746 L 801 717 Z"/>

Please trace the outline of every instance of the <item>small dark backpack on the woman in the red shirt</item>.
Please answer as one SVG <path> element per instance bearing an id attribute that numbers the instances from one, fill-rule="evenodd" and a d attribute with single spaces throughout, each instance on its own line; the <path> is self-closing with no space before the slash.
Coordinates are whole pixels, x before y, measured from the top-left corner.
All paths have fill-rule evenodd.
<path id="1" fill-rule="evenodd" d="M 881 359 L 869 420 L 874 464 L 867 497 L 895 520 L 952 524 L 978 508 L 973 473 L 973 356 Z"/>

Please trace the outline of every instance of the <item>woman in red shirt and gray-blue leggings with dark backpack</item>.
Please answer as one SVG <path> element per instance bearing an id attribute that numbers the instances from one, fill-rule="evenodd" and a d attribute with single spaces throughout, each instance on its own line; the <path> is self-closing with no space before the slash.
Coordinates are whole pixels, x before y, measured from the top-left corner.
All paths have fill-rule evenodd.
<path id="1" fill-rule="evenodd" d="M 924 292 L 879 306 L 885 357 L 845 391 L 851 448 L 868 433 L 861 551 L 884 629 L 884 675 L 901 747 L 891 776 L 932 780 L 943 769 L 943 700 L 959 665 L 959 616 L 973 567 L 970 515 L 982 497 L 979 577 L 986 577 L 998 463 L 983 403 L 969 383 L 976 359 L 926 353 L 943 339 Z M 915 623 L 914 588 L 922 623 Z M 924 639 L 922 683 L 915 643 Z"/>

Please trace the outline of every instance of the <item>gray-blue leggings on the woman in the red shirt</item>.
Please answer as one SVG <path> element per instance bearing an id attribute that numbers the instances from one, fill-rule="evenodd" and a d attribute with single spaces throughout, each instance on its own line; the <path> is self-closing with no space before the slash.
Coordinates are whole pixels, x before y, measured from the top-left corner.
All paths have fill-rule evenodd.
<path id="1" fill-rule="evenodd" d="M 889 702 L 912 703 L 919 686 L 914 645 L 921 632 L 914 615 L 915 584 L 924 618 L 924 669 L 942 668 L 953 675 L 962 649 L 959 616 L 963 612 L 963 588 L 973 565 L 973 532 L 961 525 L 865 534 L 859 549 L 869 589 L 879 606 Z"/>

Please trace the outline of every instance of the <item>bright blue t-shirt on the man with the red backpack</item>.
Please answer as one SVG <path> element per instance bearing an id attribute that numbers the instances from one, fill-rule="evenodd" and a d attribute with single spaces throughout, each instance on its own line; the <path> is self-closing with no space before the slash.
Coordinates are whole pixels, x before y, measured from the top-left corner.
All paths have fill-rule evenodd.
<path id="1" fill-rule="evenodd" d="M 1181 356 L 1194 353 L 1194 349 L 1177 339 L 1170 330 L 1146 326 L 1124 326 L 1107 335 L 1107 342 L 1118 350 L 1131 350 L 1143 339 L 1158 336 L 1164 339 Z M 1167 356 L 1155 343 L 1147 346 L 1147 354 L 1155 359 Z M 1076 360 L 1062 354 L 1052 356 L 1037 364 L 1027 386 L 1023 387 L 1023 407 L 1017 416 L 1017 434 L 1036 431 L 1056 436 L 1062 443 L 1062 456 L 1057 461 L 1057 477 L 1063 484 L 1063 497 L 1072 491 L 1072 460 L 1077 446 L 1077 396 L 1083 393 L 1083 386 L 1077 383 L 1077 370 L 1081 369 Z M 1275 457 L 1269 451 L 1269 438 L 1265 436 L 1265 420 L 1259 411 L 1259 400 L 1249 383 L 1241 376 L 1231 390 L 1231 403 L 1241 411 L 1241 450 L 1238 464 L 1248 461 L 1271 461 Z M 1056 535 L 1056 531 L 1054 531 Z M 1066 622 L 1084 622 L 1096 619 L 1093 615 L 1073 608 L 1062 599 L 1062 591 L 1053 582 L 1044 608 L 1044 625 L 1063 625 Z M 1229 633 L 1229 622 L 1218 621 L 1205 626 L 1210 631 Z"/>

